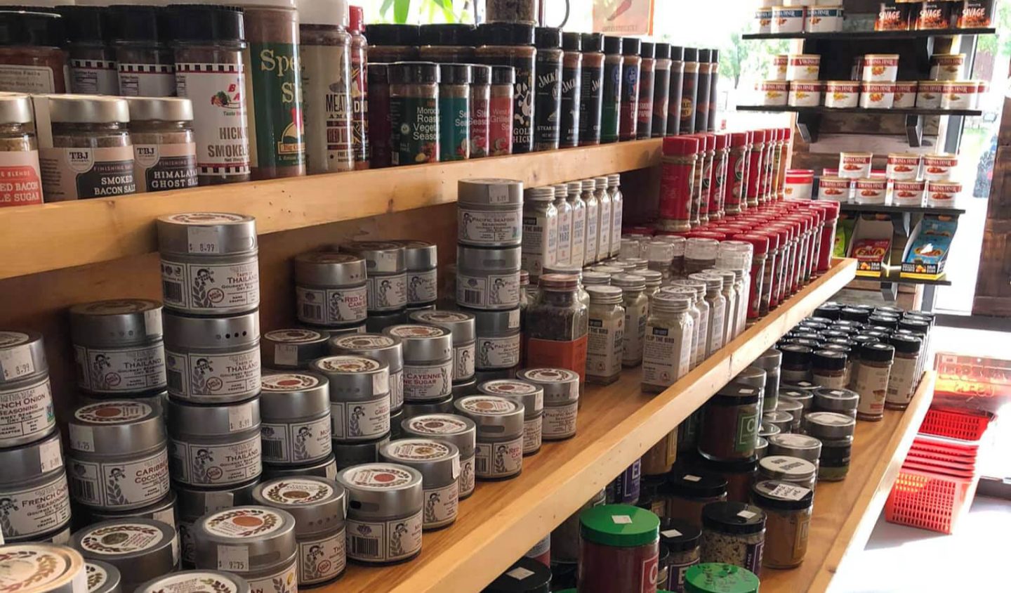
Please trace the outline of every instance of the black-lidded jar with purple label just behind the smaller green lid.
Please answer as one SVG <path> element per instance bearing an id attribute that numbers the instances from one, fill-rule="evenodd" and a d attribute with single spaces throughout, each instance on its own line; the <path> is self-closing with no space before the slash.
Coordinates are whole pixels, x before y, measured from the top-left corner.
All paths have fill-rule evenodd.
<path id="1" fill-rule="evenodd" d="M 765 513 L 760 508 L 743 502 L 714 502 L 703 508 L 702 520 L 702 562 L 731 564 L 753 573 L 761 569 Z"/>

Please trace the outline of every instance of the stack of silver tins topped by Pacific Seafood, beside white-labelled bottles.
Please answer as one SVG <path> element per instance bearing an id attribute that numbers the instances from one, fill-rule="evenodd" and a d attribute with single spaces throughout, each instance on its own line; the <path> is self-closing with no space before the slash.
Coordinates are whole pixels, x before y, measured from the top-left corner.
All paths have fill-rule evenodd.
<path id="1" fill-rule="evenodd" d="M 474 316 L 478 384 L 520 364 L 523 183 L 464 179 L 457 187 L 456 303 Z"/>

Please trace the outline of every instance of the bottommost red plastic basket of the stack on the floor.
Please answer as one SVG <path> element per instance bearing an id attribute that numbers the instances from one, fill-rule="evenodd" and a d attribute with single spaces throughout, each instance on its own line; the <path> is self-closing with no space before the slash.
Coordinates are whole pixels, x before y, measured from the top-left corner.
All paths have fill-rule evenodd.
<path id="1" fill-rule="evenodd" d="M 973 502 L 979 477 L 960 479 L 903 468 L 885 503 L 891 523 L 951 533 Z"/>

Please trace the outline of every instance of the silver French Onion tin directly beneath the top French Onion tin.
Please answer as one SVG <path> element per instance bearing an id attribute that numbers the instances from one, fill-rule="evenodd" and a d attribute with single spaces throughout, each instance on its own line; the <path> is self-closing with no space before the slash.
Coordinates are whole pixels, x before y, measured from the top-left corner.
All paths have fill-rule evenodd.
<path id="1" fill-rule="evenodd" d="M 7 541 L 35 539 L 70 524 L 60 432 L 0 448 L 0 529 Z"/>

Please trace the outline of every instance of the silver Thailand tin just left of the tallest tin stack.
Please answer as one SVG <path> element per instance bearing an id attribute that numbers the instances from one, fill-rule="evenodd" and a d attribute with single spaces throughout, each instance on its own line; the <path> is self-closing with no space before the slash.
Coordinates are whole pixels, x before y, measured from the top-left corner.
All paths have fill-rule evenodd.
<path id="1" fill-rule="evenodd" d="M 165 389 L 162 304 L 143 299 L 70 308 L 77 385 L 96 394 Z"/>

